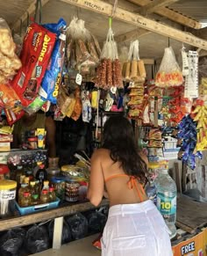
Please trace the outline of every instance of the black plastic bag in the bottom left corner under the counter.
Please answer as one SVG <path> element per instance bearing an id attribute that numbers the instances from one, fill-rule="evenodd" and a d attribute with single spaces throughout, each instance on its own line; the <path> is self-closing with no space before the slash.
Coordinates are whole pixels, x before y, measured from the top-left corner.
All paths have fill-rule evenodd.
<path id="1" fill-rule="evenodd" d="M 7 230 L 0 237 L 0 255 L 18 255 L 18 250 L 25 241 L 25 233 L 26 231 L 22 228 Z"/>

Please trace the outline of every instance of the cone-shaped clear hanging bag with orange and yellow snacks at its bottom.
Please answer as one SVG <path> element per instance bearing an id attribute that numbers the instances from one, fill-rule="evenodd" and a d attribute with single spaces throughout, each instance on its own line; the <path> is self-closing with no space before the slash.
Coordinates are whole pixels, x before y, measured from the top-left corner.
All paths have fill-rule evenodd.
<path id="1" fill-rule="evenodd" d="M 176 62 L 173 48 L 165 48 L 161 66 L 155 77 L 155 85 L 159 87 L 179 86 L 183 83 L 182 71 Z"/>

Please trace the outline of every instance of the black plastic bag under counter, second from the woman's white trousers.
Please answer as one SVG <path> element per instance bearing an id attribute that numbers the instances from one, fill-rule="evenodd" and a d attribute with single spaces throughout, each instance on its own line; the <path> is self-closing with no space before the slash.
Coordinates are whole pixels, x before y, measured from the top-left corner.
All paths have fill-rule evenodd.
<path id="1" fill-rule="evenodd" d="M 75 216 L 66 217 L 66 221 L 70 227 L 73 239 L 78 240 L 86 237 L 88 234 L 89 223 L 85 216 L 78 213 Z"/>

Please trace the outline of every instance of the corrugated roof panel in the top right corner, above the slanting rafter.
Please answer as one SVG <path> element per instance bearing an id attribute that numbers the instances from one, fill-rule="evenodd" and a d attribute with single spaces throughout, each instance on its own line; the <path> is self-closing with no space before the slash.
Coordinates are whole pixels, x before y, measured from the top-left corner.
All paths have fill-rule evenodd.
<path id="1" fill-rule="evenodd" d="M 180 0 L 168 8 L 199 22 L 207 22 L 207 0 Z"/>

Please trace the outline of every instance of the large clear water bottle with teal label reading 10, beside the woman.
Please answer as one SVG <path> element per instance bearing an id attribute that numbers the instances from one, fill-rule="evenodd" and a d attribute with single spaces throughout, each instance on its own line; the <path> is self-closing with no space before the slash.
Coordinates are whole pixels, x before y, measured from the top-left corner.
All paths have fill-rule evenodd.
<path id="1" fill-rule="evenodd" d="M 170 238 L 176 235 L 176 200 L 177 188 L 174 179 L 168 174 L 168 168 L 160 169 L 158 176 L 154 179 L 157 187 L 157 208 L 161 212 L 168 229 L 171 231 Z"/>

